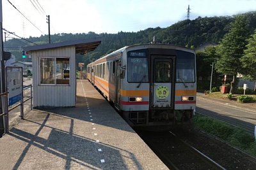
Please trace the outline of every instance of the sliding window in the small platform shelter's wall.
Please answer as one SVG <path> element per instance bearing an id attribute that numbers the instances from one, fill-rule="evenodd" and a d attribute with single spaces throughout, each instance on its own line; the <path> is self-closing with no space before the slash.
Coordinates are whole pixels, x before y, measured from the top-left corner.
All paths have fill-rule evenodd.
<path id="1" fill-rule="evenodd" d="M 70 84 L 69 58 L 40 58 L 40 84 Z"/>

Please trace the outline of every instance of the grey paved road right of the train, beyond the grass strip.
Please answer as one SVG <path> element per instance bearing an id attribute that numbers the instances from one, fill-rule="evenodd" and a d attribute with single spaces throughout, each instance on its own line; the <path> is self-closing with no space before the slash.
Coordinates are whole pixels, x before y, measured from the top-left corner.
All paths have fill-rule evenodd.
<path id="1" fill-rule="evenodd" d="M 196 112 L 217 118 L 238 127 L 243 127 L 248 132 L 254 133 L 256 125 L 256 110 L 247 110 L 234 104 L 207 99 L 198 96 L 196 101 Z"/>

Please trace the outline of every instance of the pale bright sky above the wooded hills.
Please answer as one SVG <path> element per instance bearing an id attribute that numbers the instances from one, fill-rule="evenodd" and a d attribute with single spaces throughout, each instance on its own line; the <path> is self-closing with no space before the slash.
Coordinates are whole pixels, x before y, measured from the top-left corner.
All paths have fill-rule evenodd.
<path id="1" fill-rule="evenodd" d="M 185 20 L 188 5 L 191 20 L 256 11 L 256 0 L 2 0 L 3 28 L 38 37 L 48 34 L 50 15 L 51 34 L 138 32 Z"/>

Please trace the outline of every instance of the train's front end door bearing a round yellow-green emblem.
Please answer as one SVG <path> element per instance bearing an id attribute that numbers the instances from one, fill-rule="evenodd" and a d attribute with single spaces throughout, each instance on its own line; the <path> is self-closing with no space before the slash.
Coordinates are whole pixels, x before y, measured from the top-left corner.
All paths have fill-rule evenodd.
<path id="1" fill-rule="evenodd" d="M 174 69 L 171 56 L 152 55 L 150 91 L 152 108 L 173 108 Z"/>

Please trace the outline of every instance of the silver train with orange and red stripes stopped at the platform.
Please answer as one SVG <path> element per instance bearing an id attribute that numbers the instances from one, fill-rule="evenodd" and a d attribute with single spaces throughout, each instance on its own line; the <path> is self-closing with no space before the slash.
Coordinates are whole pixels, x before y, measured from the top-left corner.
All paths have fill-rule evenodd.
<path id="1" fill-rule="evenodd" d="M 125 46 L 87 66 L 88 80 L 132 126 L 188 122 L 196 107 L 196 55 L 166 44 Z"/>

